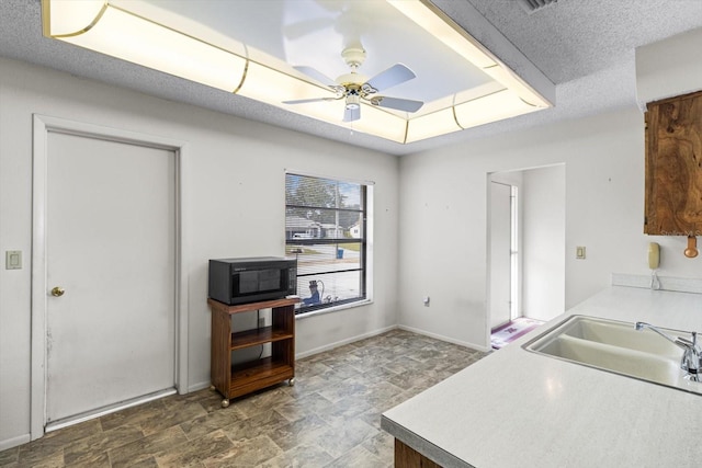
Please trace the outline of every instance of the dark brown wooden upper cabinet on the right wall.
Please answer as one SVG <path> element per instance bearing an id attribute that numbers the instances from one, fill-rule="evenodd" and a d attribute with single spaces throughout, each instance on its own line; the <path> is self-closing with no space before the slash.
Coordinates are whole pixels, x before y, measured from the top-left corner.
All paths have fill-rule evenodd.
<path id="1" fill-rule="evenodd" d="M 702 91 L 648 103 L 644 232 L 702 235 Z"/>

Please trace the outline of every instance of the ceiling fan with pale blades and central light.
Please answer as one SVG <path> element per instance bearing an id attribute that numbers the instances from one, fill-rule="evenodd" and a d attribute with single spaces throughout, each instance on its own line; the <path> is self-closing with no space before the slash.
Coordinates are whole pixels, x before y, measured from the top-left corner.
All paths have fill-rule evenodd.
<path id="1" fill-rule="evenodd" d="M 396 84 L 404 83 L 405 81 L 416 78 L 417 76 L 412 70 L 403 64 L 395 64 L 387 70 L 381 71 L 375 77 L 367 79 L 365 76 L 358 72 L 359 67 L 361 67 L 365 60 L 365 50 L 360 44 L 354 44 L 344 48 L 341 52 L 341 57 L 351 68 L 351 71 L 340 76 L 336 80 L 332 80 L 312 67 L 294 67 L 297 71 L 329 87 L 336 93 L 336 96 L 283 101 L 283 104 L 304 104 L 319 101 L 339 101 L 343 99 L 346 100 L 343 122 L 353 122 L 361 118 L 362 100 L 371 103 L 372 105 L 377 105 L 378 107 L 394 109 L 397 111 L 417 112 L 421 109 L 424 104 L 421 101 L 388 98 L 377 94 L 384 89 L 392 88 Z"/>

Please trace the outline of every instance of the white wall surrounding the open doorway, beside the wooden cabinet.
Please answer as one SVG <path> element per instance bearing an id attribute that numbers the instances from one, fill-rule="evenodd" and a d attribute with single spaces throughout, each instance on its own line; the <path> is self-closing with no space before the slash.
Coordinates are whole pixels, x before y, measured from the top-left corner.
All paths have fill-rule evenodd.
<path id="1" fill-rule="evenodd" d="M 547 111 L 544 111 L 547 112 Z M 699 277 L 684 239 L 643 233 L 644 123 L 631 109 L 500 135 L 400 159 L 400 324 L 487 349 L 487 174 L 566 164 L 565 307 L 608 286 L 613 272 Z M 575 259 L 576 246 L 587 260 Z M 421 297 L 431 296 L 431 307 Z"/>

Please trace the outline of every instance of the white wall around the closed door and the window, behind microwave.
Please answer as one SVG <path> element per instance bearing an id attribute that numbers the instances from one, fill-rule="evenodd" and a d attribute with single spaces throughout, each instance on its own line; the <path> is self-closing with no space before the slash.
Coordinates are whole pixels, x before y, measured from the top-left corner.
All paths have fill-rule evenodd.
<path id="1" fill-rule="evenodd" d="M 0 269 L 0 449 L 30 432 L 33 113 L 188 141 L 190 388 L 210 381 L 207 259 L 284 253 L 285 169 L 375 182 L 375 303 L 298 320 L 297 353 L 397 323 L 396 157 L 13 60 L 0 69 L 0 252 L 24 253 L 22 270 Z"/>

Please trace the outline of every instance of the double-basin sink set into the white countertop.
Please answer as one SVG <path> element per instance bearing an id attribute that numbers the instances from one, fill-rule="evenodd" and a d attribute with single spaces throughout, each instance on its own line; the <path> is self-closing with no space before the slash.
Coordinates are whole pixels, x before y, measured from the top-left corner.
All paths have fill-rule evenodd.
<path id="1" fill-rule="evenodd" d="M 672 336 L 690 333 L 660 329 Z M 702 395 L 702 383 L 684 378 L 682 350 L 634 323 L 571 316 L 522 347 L 532 353 Z"/>

